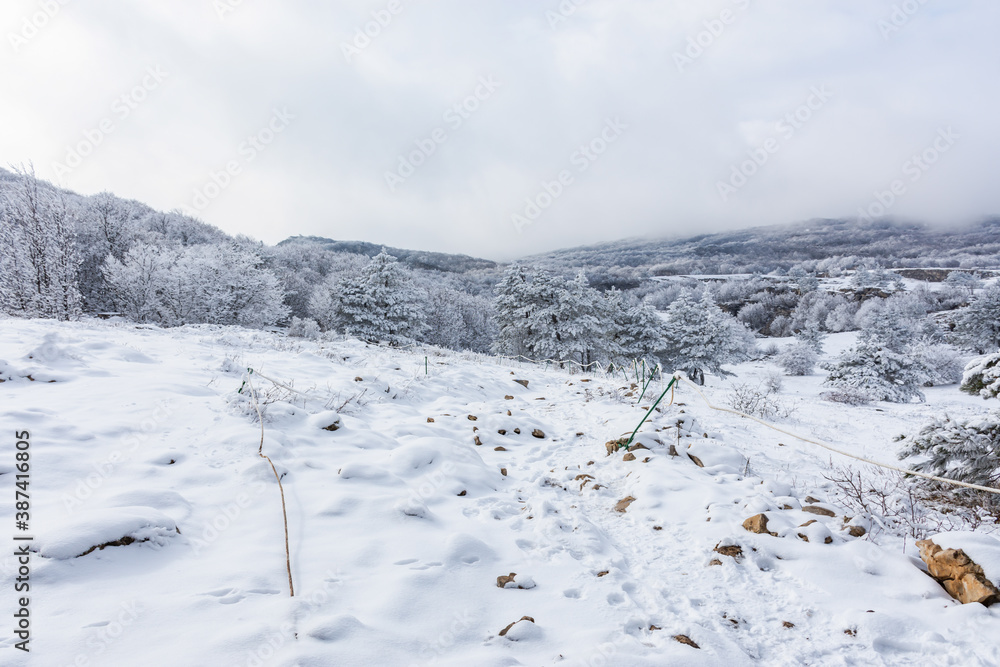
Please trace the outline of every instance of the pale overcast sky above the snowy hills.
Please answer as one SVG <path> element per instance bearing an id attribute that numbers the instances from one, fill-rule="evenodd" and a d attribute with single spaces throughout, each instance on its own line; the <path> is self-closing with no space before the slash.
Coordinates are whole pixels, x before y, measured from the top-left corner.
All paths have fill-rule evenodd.
<path id="1" fill-rule="evenodd" d="M 968 222 L 1000 213 L 998 26 L 995 0 L 5 0 L 0 161 L 269 243 L 494 259 Z"/>

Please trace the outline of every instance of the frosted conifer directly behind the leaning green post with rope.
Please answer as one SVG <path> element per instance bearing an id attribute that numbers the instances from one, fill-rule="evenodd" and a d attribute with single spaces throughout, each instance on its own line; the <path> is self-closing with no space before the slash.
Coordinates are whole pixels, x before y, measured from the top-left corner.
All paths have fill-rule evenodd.
<path id="1" fill-rule="evenodd" d="M 707 291 L 700 300 L 681 294 L 663 315 L 665 346 L 660 352 L 667 370 L 684 371 L 692 378 L 704 372 L 731 375 L 723 364 L 747 358 L 754 347 L 753 334 L 726 315 Z"/>

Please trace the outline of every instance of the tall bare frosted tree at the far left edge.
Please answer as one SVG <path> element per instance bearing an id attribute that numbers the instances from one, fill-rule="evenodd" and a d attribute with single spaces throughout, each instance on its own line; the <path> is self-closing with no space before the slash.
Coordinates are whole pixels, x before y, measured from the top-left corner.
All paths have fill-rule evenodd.
<path id="1" fill-rule="evenodd" d="M 79 317 L 74 212 L 34 169 L 0 189 L 0 308 L 12 315 Z"/>

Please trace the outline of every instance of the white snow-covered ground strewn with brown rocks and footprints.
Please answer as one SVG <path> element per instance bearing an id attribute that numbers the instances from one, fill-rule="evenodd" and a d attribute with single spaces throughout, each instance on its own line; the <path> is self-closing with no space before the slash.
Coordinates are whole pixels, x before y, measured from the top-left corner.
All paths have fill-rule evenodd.
<path id="1" fill-rule="evenodd" d="M 318 397 L 254 380 L 294 598 L 278 484 L 238 393 L 247 367 Z M 686 387 L 625 461 L 604 443 L 655 395 L 485 356 L 3 319 L 0 379 L 0 539 L 17 534 L 25 430 L 35 538 L 30 654 L 14 648 L 18 565 L 0 560 L 3 665 L 1000 663 L 1000 605 L 951 599 L 912 539 L 848 533 L 872 526 L 847 523 L 823 477 L 848 460 L 713 412 Z M 990 407 L 954 386 L 924 404 L 847 407 L 817 399 L 821 380 L 785 379 L 796 410 L 780 425 L 888 462 L 894 435 Z M 710 377 L 706 392 L 721 403 L 729 386 Z M 743 529 L 759 512 L 776 536 Z M 1000 541 L 952 539 L 1000 578 Z"/>

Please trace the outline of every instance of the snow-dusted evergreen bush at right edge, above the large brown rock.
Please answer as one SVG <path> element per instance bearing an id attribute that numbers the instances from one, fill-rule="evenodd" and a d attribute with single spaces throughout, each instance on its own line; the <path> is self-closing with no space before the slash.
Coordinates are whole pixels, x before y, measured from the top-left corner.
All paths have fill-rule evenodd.
<path id="1" fill-rule="evenodd" d="M 899 458 L 914 459 L 910 465 L 912 470 L 994 488 L 1000 482 L 1000 412 L 965 422 L 945 416 L 935 419 L 903 441 L 907 444 L 899 453 Z M 975 494 L 972 489 L 932 480 L 921 480 L 919 483 L 958 497 Z M 975 496 L 1000 507 L 1000 495 L 990 494 L 989 498 L 982 498 L 979 494 Z"/>

